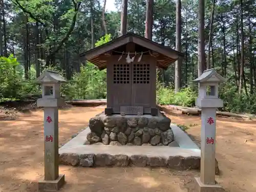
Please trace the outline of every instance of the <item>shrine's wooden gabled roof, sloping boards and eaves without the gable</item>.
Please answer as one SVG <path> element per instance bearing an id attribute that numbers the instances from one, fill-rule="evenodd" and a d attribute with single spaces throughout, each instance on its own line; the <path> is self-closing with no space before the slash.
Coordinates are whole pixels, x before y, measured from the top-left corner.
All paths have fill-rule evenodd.
<path id="1" fill-rule="evenodd" d="M 140 35 L 137 35 L 137 34 L 131 33 L 131 32 L 126 33 L 125 35 L 120 36 L 116 39 L 113 39 L 113 40 L 107 42 L 106 44 L 98 46 L 89 51 L 83 52 L 80 54 L 80 57 L 83 57 L 84 60 L 88 60 L 88 61 L 92 62 L 99 69 L 104 69 L 104 68 L 106 68 L 106 61 L 101 61 L 99 59 L 99 56 L 104 53 L 110 52 L 118 47 L 129 44 L 131 42 L 133 42 L 134 44 L 137 44 L 141 47 L 144 47 L 148 50 L 159 53 L 159 55 L 161 55 L 161 59 L 159 58 L 157 63 L 158 63 L 158 67 L 163 68 L 163 69 L 167 69 L 167 67 L 170 64 L 172 64 L 179 58 L 184 57 L 184 54 L 181 52 L 178 52 L 169 47 L 160 45 L 157 42 L 154 42 L 150 39 L 144 38 Z"/>

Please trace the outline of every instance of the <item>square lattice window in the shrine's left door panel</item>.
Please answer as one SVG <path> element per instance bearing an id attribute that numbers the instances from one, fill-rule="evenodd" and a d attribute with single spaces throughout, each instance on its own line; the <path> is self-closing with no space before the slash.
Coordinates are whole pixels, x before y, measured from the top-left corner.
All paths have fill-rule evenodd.
<path id="1" fill-rule="evenodd" d="M 115 84 L 130 83 L 130 67 L 127 64 L 114 64 L 113 82 Z"/>

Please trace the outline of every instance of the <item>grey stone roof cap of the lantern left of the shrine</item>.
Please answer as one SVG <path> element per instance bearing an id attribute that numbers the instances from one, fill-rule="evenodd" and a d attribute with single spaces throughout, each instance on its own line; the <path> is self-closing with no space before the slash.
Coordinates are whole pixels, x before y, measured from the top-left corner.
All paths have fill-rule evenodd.
<path id="1" fill-rule="evenodd" d="M 56 71 L 45 70 L 36 78 L 40 83 L 60 83 L 66 82 L 65 78 L 58 74 Z"/>

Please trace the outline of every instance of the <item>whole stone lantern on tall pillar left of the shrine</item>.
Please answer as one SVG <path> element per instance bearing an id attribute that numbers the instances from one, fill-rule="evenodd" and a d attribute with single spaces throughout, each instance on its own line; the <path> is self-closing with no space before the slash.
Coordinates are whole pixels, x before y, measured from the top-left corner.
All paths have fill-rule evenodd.
<path id="1" fill-rule="evenodd" d="M 65 183 L 65 176 L 59 175 L 58 154 L 58 107 L 63 105 L 60 98 L 60 83 L 66 80 L 57 72 L 45 70 L 37 78 L 42 84 L 42 98 L 37 106 L 44 107 L 45 177 L 39 180 L 39 191 L 56 191 Z"/>

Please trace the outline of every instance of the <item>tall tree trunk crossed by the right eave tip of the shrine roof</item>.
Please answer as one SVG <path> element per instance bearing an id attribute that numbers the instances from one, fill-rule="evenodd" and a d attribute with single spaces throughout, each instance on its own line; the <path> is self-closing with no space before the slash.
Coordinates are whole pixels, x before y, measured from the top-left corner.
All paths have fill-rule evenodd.
<path id="1" fill-rule="evenodd" d="M 181 51 L 181 0 L 176 0 L 176 51 Z M 175 62 L 175 93 L 181 88 L 181 65 L 182 60 Z"/>

